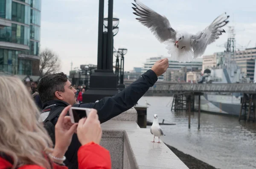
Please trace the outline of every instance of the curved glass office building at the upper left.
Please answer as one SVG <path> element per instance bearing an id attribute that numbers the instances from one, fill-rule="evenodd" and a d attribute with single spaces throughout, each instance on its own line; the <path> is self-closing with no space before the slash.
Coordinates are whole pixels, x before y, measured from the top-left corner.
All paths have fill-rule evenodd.
<path id="1" fill-rule="evenodd" d="M 0 72 L 39 75 L 41 0 L 0 0 Z"/>

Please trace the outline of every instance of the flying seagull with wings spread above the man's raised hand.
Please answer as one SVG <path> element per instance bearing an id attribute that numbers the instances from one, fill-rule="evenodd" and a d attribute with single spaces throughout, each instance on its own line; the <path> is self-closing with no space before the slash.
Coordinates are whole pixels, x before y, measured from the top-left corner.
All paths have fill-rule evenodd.
<path id="1" fill-rule="evenodd" d="M 215 42 L 222 32 L 223 27 L 229 21 L 226 12 L 218 16 L 209 26 L 197 34 L 190 34 L 186 31 L 175 30 L 169 23 L 169 20 L 152 9 L 145 6 L 138 0 L 134 0 L 134 14 L 140 23 L 148 27 L 156 38 L 167 45 L 168 54 L 171 54 L 173 60 L 178 62 L 191 62 L 193 59 L 204 54 L 207 45 Z"/>

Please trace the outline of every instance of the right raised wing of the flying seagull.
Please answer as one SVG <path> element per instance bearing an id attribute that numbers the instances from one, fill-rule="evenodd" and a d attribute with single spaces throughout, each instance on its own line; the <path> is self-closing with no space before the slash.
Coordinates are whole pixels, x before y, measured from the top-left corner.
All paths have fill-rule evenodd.
<path id="1" fill-rule="evenodd" d="M 202 56 L 207 45 L 215 42 L 215 40 L 219 38 L 219 35 L 221 35 L 222 32 L 225 32 L 221 27 L 229 22 L 227 20 L 228 18 L 229 16 L 226 13 L 221 14 L 203 31 L 199 31 L 196 35 L 192 35 L 191 43 L 194 50 L 194 58 Z"/>

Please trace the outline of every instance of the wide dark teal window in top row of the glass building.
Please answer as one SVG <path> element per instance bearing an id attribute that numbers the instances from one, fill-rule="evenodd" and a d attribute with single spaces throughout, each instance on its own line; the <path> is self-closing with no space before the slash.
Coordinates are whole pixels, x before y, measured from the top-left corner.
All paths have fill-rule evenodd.
<path id="1" fill-rule="evenodd" d="M 12 20 L 19 22 L 30 24 L 30 7 L 23 5 L 21 3 L 12 3 Z"/>

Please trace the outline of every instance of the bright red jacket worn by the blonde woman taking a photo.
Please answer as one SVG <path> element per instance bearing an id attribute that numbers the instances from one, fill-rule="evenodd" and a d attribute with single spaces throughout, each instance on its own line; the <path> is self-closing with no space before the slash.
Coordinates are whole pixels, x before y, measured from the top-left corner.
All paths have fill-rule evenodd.
<path id="1" fill-rule="evenodd" d="M 111 158 L 109 151 L 99 144 L 93 142 L 81 146 L 78 150 L 79 169 L 111 169 Z M 0 157 L 0 169 L 12 167 L 12 164 Z M 38 165 L 24 165 L 18 169 L 45 169 Z M 53 163 L 53 169 L 67 169 Z"/>

